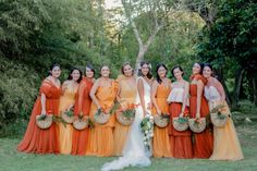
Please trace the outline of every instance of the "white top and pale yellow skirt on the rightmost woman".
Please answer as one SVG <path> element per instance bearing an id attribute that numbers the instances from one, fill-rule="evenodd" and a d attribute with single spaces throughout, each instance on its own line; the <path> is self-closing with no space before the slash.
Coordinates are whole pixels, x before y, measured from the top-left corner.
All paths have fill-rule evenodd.
<path id="1" fill-rule="evenodd" d="M 213 86 L 205 87 L 205 96 L 208 99 L 210 110 L 221 103 L 220 94 Z M 230 114 L 229 106 L 227 102 L 223 105 L 225 105 L 225 113 Z M 213 126 L 213 152 L 209 158 L 210 160 L 234 161 L 244 159 L 234 123 L 231 118 L 229 118 L 223 127 Z"/>

